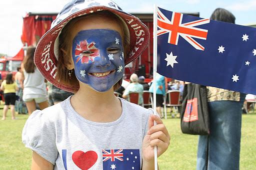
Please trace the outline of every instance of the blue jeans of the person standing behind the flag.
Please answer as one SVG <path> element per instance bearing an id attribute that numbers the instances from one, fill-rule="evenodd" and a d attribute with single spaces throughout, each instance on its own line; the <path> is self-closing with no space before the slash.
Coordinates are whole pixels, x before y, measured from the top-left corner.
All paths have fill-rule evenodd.
<path id="1" fill-rule="evenodd" d="M 239 170 L 244 98 L 208 102 L 210 135 L 199 136 L 196 170 Z"/>

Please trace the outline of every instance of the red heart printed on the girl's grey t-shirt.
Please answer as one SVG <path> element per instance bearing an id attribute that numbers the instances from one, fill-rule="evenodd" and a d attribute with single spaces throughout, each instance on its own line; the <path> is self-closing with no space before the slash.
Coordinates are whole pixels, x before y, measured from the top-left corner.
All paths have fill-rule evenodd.
<path id="1" fill-rule="evenodd" d="M 95 153 L 94 151 L 87 151 L 85 153 L 82 151 L 75 151 L 72 154 L 72 160 L 74 164 L 81 170 L 88 170 L 89 168 L 91 168 L 95 164 L 97 159 L 97 153 Z"/>

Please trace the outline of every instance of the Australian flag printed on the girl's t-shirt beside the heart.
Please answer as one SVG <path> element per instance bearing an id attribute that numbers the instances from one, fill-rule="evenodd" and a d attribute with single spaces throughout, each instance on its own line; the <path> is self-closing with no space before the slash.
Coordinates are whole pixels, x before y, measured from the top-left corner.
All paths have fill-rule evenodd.
<path id="1" fill-rule="evenodd" d="M 102 150 L 103 170 L 140 170 L 139 150 Z"/>

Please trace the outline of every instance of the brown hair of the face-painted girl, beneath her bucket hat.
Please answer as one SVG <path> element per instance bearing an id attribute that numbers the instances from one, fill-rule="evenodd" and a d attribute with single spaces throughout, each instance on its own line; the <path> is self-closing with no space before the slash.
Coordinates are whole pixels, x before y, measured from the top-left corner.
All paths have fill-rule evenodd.
<path id="1" fill-rule="evenodd" d="M 71 85 L 71 86 L 79 86 L 78 80 L 75 77 L 74 70 L 69 70 L 71 72 L 71 77 L 68 76 L 68 69 L 66 68 L 67 64 L 70 64 L 70 59 L 71 57 L 69 56 L 71 53 L 71 45 L 72 42 L 70 39 L 72 38 L 72 35 L 70 33 L 70 29 L 73 26 L 73 24 L 78 21 L 81 18 L 92 16 L 92 15 L 98 15 L 102 17 L 109 17 L 111 19 L 116 20 L 116 22 L 121 23 L 121 34 L 123 37 L 123 48 L 124 48 L 124 56 L 129 51 L 129 31 L 127 28 L 127 25 L 125 22 L 117 15 L 114 13 L 103 10 L 103 11 L 98 11 L 90 14 L 86 14 L 83 16 L 79 16 L 76 18 L 73 18 L 71 21 L 69 21 L 61 30 L 61 33 L 59 34 L 59 46 L 58 46 L 58 66 L 57 66 L 57 75 L 56 78 L 58 79 L 59 83 L 65 84 L 65 85 Z M 120 81 L 120 80 L 119 80 Z M 118 82 L 114 85 L 114 90 L 119 88 Z"/>

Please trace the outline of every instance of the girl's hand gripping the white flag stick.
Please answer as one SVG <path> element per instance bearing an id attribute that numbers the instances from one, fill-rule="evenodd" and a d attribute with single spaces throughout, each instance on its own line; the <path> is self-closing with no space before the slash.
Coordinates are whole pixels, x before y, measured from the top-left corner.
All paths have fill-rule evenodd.
<path id="1" fill-rule="evenodd" d="M 154 121 L 157 125 L 154 126 Z M 162 123 L 162 120 L 155 115 L 150 115 L 148 119 L 148 131 L 142 143 L 142 162 L 154 162 L 154 146 L 157 146 L 157 157 L 162 155 L 170 144 L 170 136 Z"/>

